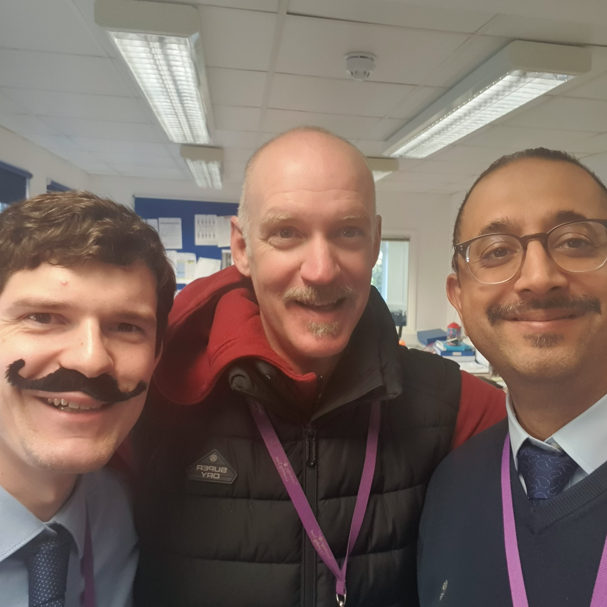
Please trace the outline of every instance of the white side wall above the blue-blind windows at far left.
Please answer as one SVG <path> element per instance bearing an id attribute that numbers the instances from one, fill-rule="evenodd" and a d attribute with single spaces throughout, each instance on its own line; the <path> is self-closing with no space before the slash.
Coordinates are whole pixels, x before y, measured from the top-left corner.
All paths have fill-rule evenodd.
<path id="1" fill-rule="evenodd" d="M 0 161 L 32 173 L 30 196 L 45 194 L 47 179 L 69 188 L 89 189 L 89 174 L 1 126 Z"/>

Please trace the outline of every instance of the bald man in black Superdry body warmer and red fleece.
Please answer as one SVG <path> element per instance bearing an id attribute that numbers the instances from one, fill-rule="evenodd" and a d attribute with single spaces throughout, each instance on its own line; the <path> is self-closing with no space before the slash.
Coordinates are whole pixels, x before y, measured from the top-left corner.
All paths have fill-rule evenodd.
<path id="1" fill-rule="evenodd" d="M 234 266 L 177 297 L 135 437 L 141 607 L 417 605 L 430 474 L 504 396 L 399 346 L 380 242 L 347 141 L 295 129 L 249 161 Z"/>

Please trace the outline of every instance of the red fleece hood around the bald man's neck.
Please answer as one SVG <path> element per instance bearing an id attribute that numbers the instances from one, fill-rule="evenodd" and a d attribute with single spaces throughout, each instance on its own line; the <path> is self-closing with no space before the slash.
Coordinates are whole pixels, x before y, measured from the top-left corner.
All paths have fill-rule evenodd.
<path id="1" fill-rule="evenodd" d="M 304 395 L 314 373 L 299 375 L 268 343 L 251 281 L 236 266 L 194 280 L 175 298 L 154 382 L 169 400 L 192 405 L 209 395 L 232 362 L 254 357 L 293 379 Z"/>

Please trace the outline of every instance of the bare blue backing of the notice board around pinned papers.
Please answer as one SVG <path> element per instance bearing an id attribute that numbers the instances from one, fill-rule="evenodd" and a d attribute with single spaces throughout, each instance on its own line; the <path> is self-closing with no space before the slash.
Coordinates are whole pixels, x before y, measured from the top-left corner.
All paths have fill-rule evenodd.
<path id="1" fill-rule="evenodd" d="M 238 204 L 233 202 L 203 202 L 202 200 L 171 200 L 167 198 L 135 197 L 135 212 L 143 219 L 181 217 L 181 253 L 194 253 L 198 257 L 222 259 L 219 246 L 194 245 L 194 215 L 236 215 Z M 226 249 L 228 247 L 223 247 Z M 185 285 L 177 285 L 178 289 Z"/>

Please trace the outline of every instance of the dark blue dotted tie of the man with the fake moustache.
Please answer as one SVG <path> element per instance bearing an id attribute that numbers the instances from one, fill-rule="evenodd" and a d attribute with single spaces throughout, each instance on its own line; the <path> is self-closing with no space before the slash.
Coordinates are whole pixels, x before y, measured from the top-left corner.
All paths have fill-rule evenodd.
<path id="1" fill-rule="evenodd" d="M 64 607 L 67 564 L 72 535 L 61 525 L 52 525 L 56 535 L 41 533 L 21 550 L 29 579 L 29 607 Z"/>

